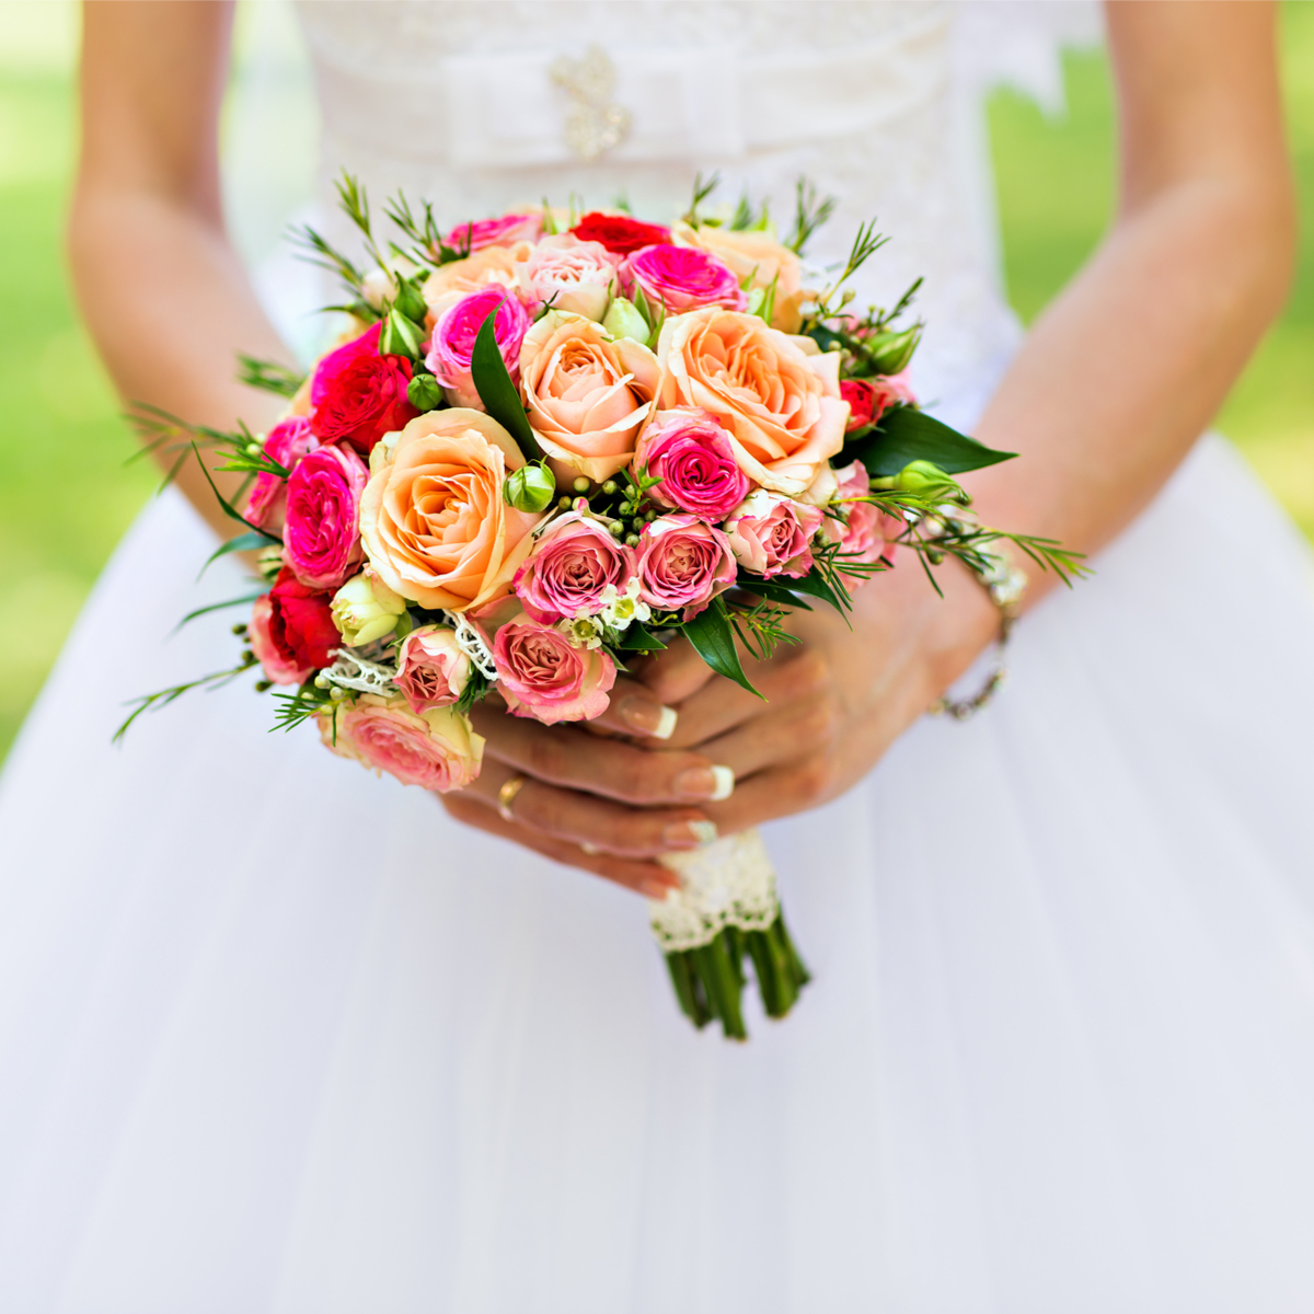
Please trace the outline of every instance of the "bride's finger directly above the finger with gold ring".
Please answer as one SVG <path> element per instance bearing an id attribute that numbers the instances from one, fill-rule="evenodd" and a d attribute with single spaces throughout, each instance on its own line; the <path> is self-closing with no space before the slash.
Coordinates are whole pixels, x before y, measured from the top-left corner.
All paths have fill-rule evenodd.
<path id="1" fill-rule="evenodd" d="M 487 707 L 470 712 L 485 757 L 549 784 L 641 807 L 725 798 L 735 774 L 700 753 L 666 753 L 599 738 L 573 725 L 540 725 Z"/>

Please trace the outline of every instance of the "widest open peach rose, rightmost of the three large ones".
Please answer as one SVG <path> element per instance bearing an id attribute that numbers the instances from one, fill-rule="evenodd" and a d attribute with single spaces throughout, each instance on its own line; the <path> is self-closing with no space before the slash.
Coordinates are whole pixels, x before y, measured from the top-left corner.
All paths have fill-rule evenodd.
<path id="1" fill-rule="evenodd" d="M 661 410 L 700 406 L 729 434 L 740 469 L 791 497 L 844 447 L 840 353 L 756 315 L 708 306 L 662 325 Z"/>

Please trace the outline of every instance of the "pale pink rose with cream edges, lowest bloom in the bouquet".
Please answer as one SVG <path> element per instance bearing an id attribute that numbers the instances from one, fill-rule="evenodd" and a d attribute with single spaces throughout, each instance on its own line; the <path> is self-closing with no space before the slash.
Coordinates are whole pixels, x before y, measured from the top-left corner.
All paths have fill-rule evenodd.
<path id="1" fill-rule="evenodd" d="M 374 771 L 386 771 L 402 784 L 447 794 L 480 774 L 484 740 L 469 719 L 451 707 L 413 712 L 403 698 L 359 694 L 319 714 L 319 736 L 339 757 L 350 757 Z"/>

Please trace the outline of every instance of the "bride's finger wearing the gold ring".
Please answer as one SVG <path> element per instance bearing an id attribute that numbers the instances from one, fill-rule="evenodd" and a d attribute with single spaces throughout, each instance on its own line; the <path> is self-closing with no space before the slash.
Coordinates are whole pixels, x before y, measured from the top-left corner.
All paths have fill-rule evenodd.
<path id="1" fill-rule="evenodd" d="M 501 815 L 502 786 L 518 773 L 502 762 L 486 761 L 477 781 L 463 791 Z M 539 834 L 581 845 L 586 851 L 622 858 L 652 858 L 662 853 L 696 849 L 716 838 L 716 827 L 695 808 L 629 808 L 590 794 L 577 794 L 532 777 L 506 804 L 511 820 Z M 507 820 L 505 816 L 502 820 Z"/>

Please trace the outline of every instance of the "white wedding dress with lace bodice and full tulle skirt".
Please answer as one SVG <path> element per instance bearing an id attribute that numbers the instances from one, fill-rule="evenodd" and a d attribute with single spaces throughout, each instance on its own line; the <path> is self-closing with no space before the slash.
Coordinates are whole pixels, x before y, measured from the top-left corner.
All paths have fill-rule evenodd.
<path id="1" fill-rule="evenodd" d="M 1007 49 L 903 4 L 302 21 L 326 175 L 376 204 L 665 218 L 719 166 L 783 214 L 808 172 L 816 259 L 875 214 L 865 290 L 926 276 L 918 390 L 971 423 L 1018 338 L 978 93 L 1053 57 L 1041 8 Z M 548 64 L 591 43 L 633 121 L 585 164 Z M 143 512 L 4 777 L 7 1314 L 1314 1309 L 1309 555 L 1221 440 L 983 715 L 765 828 L 815 982 L 745 1046 L 677 1012 L 639 900 L 244 685 L 112 749 L 125 699 L 231 660 L 233 612 L 163 641 L 244 591 L 194 582 L 210 545 Z"/>

